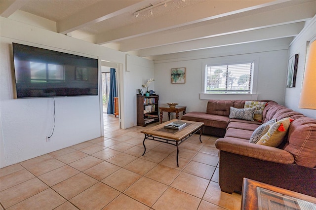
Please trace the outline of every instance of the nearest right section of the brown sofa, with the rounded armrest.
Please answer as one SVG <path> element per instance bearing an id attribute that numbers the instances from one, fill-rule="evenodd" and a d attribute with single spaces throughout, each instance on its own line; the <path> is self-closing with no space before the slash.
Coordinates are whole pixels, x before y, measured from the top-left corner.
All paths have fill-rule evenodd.
<path id="1" fill-rule="evenodd" d="M 241 192 L 242 179 L 246 177 L 316 197 L 316 119 L 283 105 L 270 104 L 266 108 L 264 122 L 285 117 L 294 120 L 287 135 L 276 148 L 249 143 L 251 131 L 242 127 L 239 132 L 237 125 L 228 128 L 225 137 L 215 142 L 219 149 L 221 190 Z"/>

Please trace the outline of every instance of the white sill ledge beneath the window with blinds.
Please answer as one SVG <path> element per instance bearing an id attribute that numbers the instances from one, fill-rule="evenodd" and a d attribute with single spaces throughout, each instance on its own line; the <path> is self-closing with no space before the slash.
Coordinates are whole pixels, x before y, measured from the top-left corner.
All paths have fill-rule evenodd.
<path id="1" fill-rule="evenodd" d="M 200 93 L 200 100 L 258 100 L 257 94 L 234 94 L 234 93 L 226 93 L 226 94 L 216 94 L 216 93 Z"/>

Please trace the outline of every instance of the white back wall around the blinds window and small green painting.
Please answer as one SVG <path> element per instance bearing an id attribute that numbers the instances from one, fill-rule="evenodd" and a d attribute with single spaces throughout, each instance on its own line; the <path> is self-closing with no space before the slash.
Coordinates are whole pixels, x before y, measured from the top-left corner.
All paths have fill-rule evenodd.
<path id="1" fill-rule="evenodd" d="M 292 38 L 225 46 L 195 52 L 163 55 L 155 58 L 155 90 L 159 94 L 159 105 L 173 102 L 187 106 L 187 112 L 206 111 L 207 100 L 200 100 L 203 64 L 220 64 L 227 61 L 256 60 L 255 69 L 258 100 L 274 100 L 284 103 L 287 72 L 288 46 Z M 171 84 L 170 69 L 186 68 L 186 82 Z M 211 99 L 222 99 L 212 94 Z M 240 99 L 229 95 L 226 99 Z M 241 99 L 248 100 L 248 98 Z M 164 114 L 163 120 L 166 120 Z M 181 116 L 181 115 L 180 115 Z"/>

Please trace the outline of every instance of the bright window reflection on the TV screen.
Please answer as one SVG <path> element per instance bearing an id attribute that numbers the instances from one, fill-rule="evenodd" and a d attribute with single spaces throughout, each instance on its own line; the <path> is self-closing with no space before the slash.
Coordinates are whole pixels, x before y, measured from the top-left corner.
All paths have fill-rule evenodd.
<path id="1" fill-rule="evenodd" d="M 63 82 L 64 68 L 61 65 L 30 62 L 31 82 Z"/>

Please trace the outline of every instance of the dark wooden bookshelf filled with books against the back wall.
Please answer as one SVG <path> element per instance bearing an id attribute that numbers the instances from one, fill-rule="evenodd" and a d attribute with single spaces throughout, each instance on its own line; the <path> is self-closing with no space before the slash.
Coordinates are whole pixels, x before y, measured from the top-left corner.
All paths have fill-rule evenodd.
<path id="1" fill-rule="evenodd" d="M 159 96 L 142 96 L 137 94 L 137 125 L 146 126 L 159 122 Z"/>

